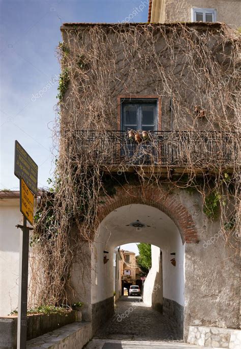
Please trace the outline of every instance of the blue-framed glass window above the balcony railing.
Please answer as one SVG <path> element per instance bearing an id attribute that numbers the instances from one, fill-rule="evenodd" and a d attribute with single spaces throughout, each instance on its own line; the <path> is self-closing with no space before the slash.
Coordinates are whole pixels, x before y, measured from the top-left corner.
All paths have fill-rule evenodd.
<path id="1" fill-rule="evenodd" d="M 157 99 L 122 99 L 122 130 L 157 130 Z"/>

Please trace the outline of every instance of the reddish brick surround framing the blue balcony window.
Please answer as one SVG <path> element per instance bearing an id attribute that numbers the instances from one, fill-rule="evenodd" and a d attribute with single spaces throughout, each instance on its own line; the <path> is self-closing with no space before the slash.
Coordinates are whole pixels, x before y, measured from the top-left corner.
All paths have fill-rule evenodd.
<path id="1" fill-rule="evenodd" d="M 117 97 L 117 104 L 118 104 L 118 118 L 117 118 L 117 129 L 118 131 L 125 131 L 124 130 L 124 123 L 122 119 L 123 115 L 123 100 L 126 102 L 135 102 L 134 100 L 139 100 L 140 104 L 144 105 L 144 100 L 155 100 L 157 103 L 157 110 L 156 110 L 156 124 L 155 124 L 155 130 L 154 131 L 161 131 L 161 97 L 158 95 L 119 95 Z M 138 101 L 137 101 L 138 102 Z M 143 103 L 142 103 L 143 102 Z"/>

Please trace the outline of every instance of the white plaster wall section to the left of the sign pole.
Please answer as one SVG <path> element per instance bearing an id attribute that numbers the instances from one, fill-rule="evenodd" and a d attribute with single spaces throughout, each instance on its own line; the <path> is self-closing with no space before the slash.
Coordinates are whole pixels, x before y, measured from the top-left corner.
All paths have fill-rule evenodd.
<path id="1" fill-rule="evenodd" d="M 0 199 L 0 316 L 18 305 L 19 199 Z"/>

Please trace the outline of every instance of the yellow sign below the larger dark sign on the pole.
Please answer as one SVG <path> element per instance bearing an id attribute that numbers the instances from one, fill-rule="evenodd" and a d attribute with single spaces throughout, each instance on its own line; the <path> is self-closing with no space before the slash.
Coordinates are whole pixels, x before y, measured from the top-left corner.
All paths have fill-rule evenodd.
<path id="1" fill-rule="evenodd" d="M 20 180 L 20 211 L 29 221 L 29 223 L 34 223 L 34 194 L 28 188 L 24 180 Z"/>

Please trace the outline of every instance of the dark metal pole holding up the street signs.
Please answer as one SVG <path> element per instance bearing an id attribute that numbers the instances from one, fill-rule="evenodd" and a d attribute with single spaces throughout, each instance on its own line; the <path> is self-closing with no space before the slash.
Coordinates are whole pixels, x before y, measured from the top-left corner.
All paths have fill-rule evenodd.
<path id="1" fill-rule="evenodd" d="M 17 349 L 25 349 L 27 340 L 28 245 L 29 230 L 32 230 L 33 228 L 27 227 L 27 220 L 24 216 L 23 225 L 17 225 L 16 227 L 21 228 L 19 251 Z"/>

